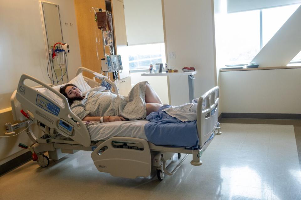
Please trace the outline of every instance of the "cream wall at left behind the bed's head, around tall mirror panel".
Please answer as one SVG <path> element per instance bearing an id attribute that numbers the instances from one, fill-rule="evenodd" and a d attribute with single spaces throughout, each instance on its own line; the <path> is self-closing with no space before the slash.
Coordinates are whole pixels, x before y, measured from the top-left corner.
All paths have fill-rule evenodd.
<path id="1" fill-rule="evenodd" d="M 77 24 L 73 0 L 49 0 L 60 6 L 64 42 L 69 43 L 69 79 L 75 77 L 81 66 Z M 17 89 L 23 73 L 27 73 L 46 83 L 47 57 L 40 4 L 38 0 L 0 0 L 0 135 L 5 132 L 4 123 L 13 122 L 9 108 L 10 96 Z M 87 11 L 89 12 L 89 11 Z M 73 26 L 66 26 L 65 22 Z M 18 143 L 31 144 L 26 133 L 0 139 L 0 165 L 24 153 Z"/>

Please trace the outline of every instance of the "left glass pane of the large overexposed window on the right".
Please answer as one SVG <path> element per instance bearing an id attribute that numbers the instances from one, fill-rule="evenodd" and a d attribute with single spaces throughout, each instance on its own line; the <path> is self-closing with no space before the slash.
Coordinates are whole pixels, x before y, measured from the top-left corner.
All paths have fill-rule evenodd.
<path id="1" fill-rule="evenodd" d="M 215 44 L 224 65 L 249 63 L 260 50 L 259 11 L 215 16 Z"/>

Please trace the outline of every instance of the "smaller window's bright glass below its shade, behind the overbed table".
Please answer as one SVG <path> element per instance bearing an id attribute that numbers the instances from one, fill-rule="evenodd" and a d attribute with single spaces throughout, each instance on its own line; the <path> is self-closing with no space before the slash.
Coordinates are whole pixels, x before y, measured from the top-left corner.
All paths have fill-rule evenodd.
<path id="1" fill-rule="evenodd" d="M 164 43 L 129 46 L 129 69 L 149 68 L 150 64 L 166 63 Z"/>

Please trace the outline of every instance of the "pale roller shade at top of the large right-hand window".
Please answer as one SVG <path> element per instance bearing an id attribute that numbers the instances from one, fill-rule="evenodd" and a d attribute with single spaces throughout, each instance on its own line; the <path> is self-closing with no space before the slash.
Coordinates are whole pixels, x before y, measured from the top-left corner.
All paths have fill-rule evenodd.
<path id="1" fill-rule="evenodd" d="M 300 2 L 301 0 L 227 0 L 227 12 L 231 13 L 248 10 L 260 10 L 264 8 L 273 8 Z"/>

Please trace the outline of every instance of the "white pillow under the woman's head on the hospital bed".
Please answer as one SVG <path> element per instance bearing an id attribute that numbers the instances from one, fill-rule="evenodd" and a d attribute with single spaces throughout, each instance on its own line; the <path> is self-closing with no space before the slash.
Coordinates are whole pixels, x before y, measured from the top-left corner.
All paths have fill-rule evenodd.
<path id="1" fill-rule="evenodd" d="M 75 78 L 73 78 L 71 81 L 69 81 L 68 83 L 64 83 L 62 85 L 56 85 L 53 86 L 52 88 L 55 89 L 56 91 L 60 92 L 60 88 L 66 84 L 74 84 L 78 87 L 78 89 L 80 89 L 82 91 L 82 93 L 85 93 L 89 90 L 91 90 L 92 88 L 88 85 L 88 83 L 84 80 L 84 77 L 82 76 L 82 73 L 78 74 Z M 55 93 L 51 92 L 49 89 L 47 88 L 36 88 L 36 90 L 38 90 L 40 93 L 44 94 L 45 96 L 55 100 L 56 103 L 60 104 L 60 105 L 64 105 L 63 100 L 57 96 Z"/>

